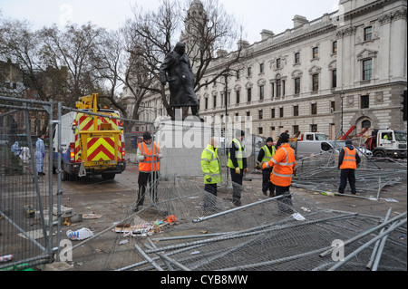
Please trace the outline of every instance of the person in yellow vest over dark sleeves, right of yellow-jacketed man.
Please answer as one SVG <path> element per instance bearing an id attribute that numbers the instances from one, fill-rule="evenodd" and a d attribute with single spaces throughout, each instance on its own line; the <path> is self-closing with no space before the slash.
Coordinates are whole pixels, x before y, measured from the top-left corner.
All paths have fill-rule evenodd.
<path id="1" fill-rule="evenodd" d="M 248 172 L 247 158 L 244 158 L 245 147 L 242 145 L 244 139 L 245 132 L 238 130 L 228 149 L 227 167 L 232 180 L 232 204 L 237 207 L 241 206 L 241 187 L 244 173 Z"/>

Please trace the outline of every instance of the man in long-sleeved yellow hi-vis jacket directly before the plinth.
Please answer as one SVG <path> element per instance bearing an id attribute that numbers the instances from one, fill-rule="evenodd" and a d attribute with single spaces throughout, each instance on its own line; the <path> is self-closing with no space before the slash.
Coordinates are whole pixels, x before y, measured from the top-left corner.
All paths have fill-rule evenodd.
<path id="1" fill-rule="evenodd" d="M 221 165 L 218 155 L 217 138 L 211 138 L 209 144 L 201 153 L 201 169 L 204 174 L 204 190 L 209 192 L 204 196 L 204 208 L 214 209 L 217 197 L 217 184 L 222 182 Z"/>

